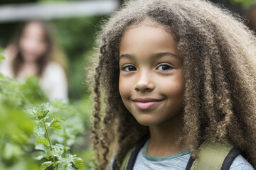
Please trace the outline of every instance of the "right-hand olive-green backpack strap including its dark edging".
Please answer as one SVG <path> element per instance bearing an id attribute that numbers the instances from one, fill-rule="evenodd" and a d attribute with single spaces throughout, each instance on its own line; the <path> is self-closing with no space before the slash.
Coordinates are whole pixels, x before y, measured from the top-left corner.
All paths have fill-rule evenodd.
<path id="1" fill-rule="evenodd" d="M 186 170 L 228 170 L 238 154 L 233 145 L 206 141 L 199 147 L 198 157 L 188 160 Z"/>

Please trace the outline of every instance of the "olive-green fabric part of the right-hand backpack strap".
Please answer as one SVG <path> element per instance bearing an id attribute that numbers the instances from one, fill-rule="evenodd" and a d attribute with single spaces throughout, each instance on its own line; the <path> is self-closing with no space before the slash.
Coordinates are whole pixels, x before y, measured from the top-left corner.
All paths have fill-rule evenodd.
<path id="1" fill-rule="evenodd" d="M 226 161 L 226 157 L 233 148 L 233 145 L 230 144 L 203 142 L 199 147 L 198 158 L 193 162 L 191 170 L 222 170 L 223 162 Z M 236 154 L 239 153 L 237 152 Z M 230 162 L 230 164 L 232 164 L 232 162 Z"/>

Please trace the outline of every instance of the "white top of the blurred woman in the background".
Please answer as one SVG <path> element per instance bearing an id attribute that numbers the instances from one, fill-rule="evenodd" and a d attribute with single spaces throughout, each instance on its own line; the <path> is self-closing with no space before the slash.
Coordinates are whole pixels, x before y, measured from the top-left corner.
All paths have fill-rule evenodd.
<path id="1" fill-rule="evenodd" d="M 6 57 L 0 65 L 0 72 L 6 77 L 14 78 L 11 61 Z M 17 77 L 18 81 L 26 79 Z M 68 101 L 68 81 L 63 68 L 57 62 L 49 62 L 40 78 L 40 85 L 50 100 Z"/>

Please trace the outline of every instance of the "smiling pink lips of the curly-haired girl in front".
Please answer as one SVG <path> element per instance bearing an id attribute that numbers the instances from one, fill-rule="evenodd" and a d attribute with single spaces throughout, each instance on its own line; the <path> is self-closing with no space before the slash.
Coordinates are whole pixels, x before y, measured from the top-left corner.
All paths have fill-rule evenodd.
<path id="1" fill-rule="evenodd" d="M 141 110 L 149 110 L 154 108 L 154 106 L 157 106 L 163 100 L 155 98 L 137 98 L 132 101 L 134 102 L 135 106 L 137 106 L 137 108 Z"/>

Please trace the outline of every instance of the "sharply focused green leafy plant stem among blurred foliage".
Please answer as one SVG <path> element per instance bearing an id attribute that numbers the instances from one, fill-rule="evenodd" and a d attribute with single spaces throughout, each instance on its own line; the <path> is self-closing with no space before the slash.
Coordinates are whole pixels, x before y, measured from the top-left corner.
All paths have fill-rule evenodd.
<path id="1" fill-rule="evenodd" d="M 34 130 L 36 134 L 35 148 L 43 152 L 37 159 L 52 159 L 41 164 L 41 170 L 46 169 L 50 165 L 53 165 L 56 170 L 74 169 L 72 166 L 73 164 L 77 169 L 84 169 L 82 159 L 73 154 L 64 154 L 65 151 L 68 151 L 68 147 L 64 147 L 61 144 L 52 145 L 48 129 L 61 130 L 62 126 L 60 123 L 64 120 L 61 118 L 53 118 L 53 120 L 48 122 L 48 106 L 49 103 L 43 103 L 38 108 L 34 107 L 33 109 L 26 110 L 37 124 L 36 129 Z"/>

